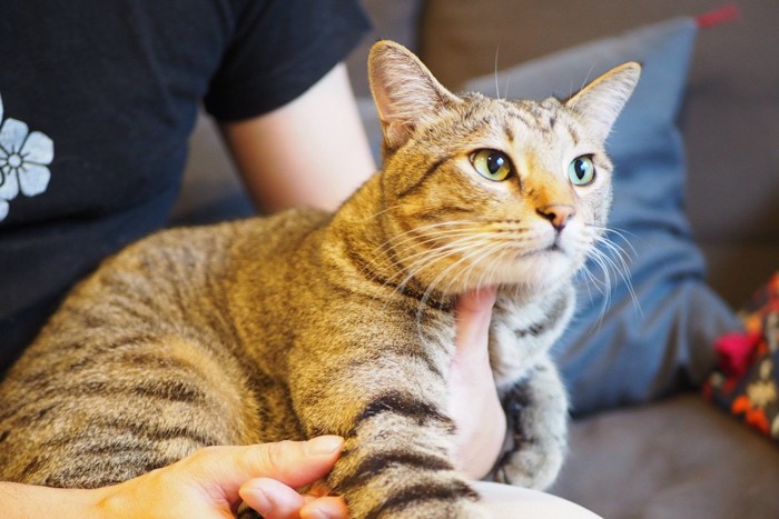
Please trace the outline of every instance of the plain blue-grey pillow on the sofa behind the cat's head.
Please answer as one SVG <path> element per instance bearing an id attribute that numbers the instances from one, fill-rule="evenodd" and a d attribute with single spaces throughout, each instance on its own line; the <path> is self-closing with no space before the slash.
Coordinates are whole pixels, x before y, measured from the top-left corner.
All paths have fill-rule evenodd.
<path id="1" fill-rule="evenodd" d="M 466 84 L 490 96 L 500 88 L 501 97 L 564 98 L 613 66 L 643 63 L 641 81 L 607 146 L 614 161 L 609 227 L 615 232 L 609 236 L 629 253 L 635 298 L 619 275 L 612 273 L 607 293 L 588 277 L 579 280 L 579 310 L 555 349 L 574 413 L 699 385 L 713 367 L 714 338 L 739 328 L 704 282 L 703 258 L 684 214 L 684 149 L 677 117 L 696 32 L 693 19 L 672 19 Z"/>

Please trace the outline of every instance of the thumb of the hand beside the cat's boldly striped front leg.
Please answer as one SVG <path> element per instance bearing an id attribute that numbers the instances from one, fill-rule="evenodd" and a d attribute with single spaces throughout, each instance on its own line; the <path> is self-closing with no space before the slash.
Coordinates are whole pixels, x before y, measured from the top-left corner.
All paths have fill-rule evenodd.
<path id="1" fill-rule="evenodd" d="M 243 447 L 211 447 L 185 458 L 197 482 L 210 481 L 230 501 L 254 478 L 272 478 L 292 488 L 327 475 L 338 459 L 344 439 L 322 436 L 308 441 L 279 441 Z"/>

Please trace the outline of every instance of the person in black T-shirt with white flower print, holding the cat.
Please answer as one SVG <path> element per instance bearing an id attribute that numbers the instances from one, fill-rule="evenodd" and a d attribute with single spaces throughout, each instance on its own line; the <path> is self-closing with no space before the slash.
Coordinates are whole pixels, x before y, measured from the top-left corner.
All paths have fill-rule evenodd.
<path id="1" fill-rule="evenodd" d="M 0 370 L 75 281 L 166 224 L 200 103 L 259 208 L 337 207 L 375 168 L 343 64 L 367 27 L 356 0 L 7 0 Z M 452 412 L 458 462 L 474 478 L 506 428 L 486 349 L 492 302 L 486 289 L 456 306 Z M 105 489 L 0 482 L 0 516 L 100 517 L 109 505 L 147 516 L 191 502 L 229 517 L 243 499 L 266 517 L 345 517 L 343 501 L 293 490 L 332 468 L 339 448 L 315 448 L 327 441 L 338 445 L 209 448 Z"/>

